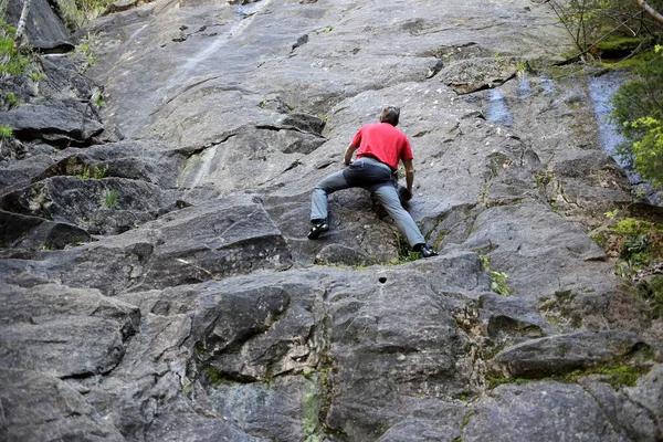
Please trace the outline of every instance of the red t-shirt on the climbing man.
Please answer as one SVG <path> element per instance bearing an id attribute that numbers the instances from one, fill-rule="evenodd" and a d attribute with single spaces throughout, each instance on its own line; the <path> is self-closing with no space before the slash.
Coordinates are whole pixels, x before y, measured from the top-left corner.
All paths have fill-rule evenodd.
<path id="1" fill-rule="evenodd" d="M 372 157 L 391 168 L 398 169 L 398 161 L 414 158 L 408 137 L 389 123 L 375 123 L 359 129 L 352 146 L 359 146 L 357 158 Z"/>

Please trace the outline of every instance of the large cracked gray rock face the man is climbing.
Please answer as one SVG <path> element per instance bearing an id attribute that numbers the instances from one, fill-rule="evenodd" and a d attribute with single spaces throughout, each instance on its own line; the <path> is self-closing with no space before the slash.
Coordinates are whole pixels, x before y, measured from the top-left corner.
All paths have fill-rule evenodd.
<path id="1" fill-rule="evenodd" d="M 661 318 L 587 233 L 630 185 L 545 3 L 120 1 L 86 75 L 36 6 L 43 75 L 0 80 L 1 440 L 663 438 Z M 361 189 L 306 239 L 386 104 L 436 257 Z"/>

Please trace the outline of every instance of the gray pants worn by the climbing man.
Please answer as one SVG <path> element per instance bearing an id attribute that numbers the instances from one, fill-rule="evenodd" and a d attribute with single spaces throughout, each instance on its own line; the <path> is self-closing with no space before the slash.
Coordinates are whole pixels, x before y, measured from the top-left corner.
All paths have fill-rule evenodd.
<path id="1" fill-rule="evenodd" d="M 327 218 L 327 196 L 352 187 L 360 187 L 376 194 L 408 239 L 410 246 L 425 243 L 414 220 L 401 206 L 396 183 L 391 179 L 391 168 L 372 158 L 359 158 L 344 170 L 332 173 L 318 182 L 311 196 L 311 220 Z"/>

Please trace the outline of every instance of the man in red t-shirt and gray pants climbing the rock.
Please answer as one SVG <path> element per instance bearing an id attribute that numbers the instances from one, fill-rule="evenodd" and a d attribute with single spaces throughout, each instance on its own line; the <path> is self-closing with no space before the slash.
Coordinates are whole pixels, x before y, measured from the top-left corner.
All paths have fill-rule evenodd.
<path id="1" fill-rule="evenodd" d="M 396 181 L 392 179 L 392 175 L 397 173 L 399 161 L 402 161 L 406 167 L 407 200 L 412 198 L 413 156 L 408 137 L 396 128 L 399 117 L 398 107 L 385 107 L 380 115 L 380 123 L 366 125 L 355 135 L 345 151 L 347 167 L 317 183 L 311 197 L 313 228 L 308 232 L 309 240 L 315 240 L 329 230 L 327 196 L 337 190 L 360 187 L 377 196 L 415 252 L 421 253 L 423 257 L 438 255 L 425 243 L 410 213 L 403 209 Z M 357 151 L 356 160 L 352 161 L 355 151 Z"/>

